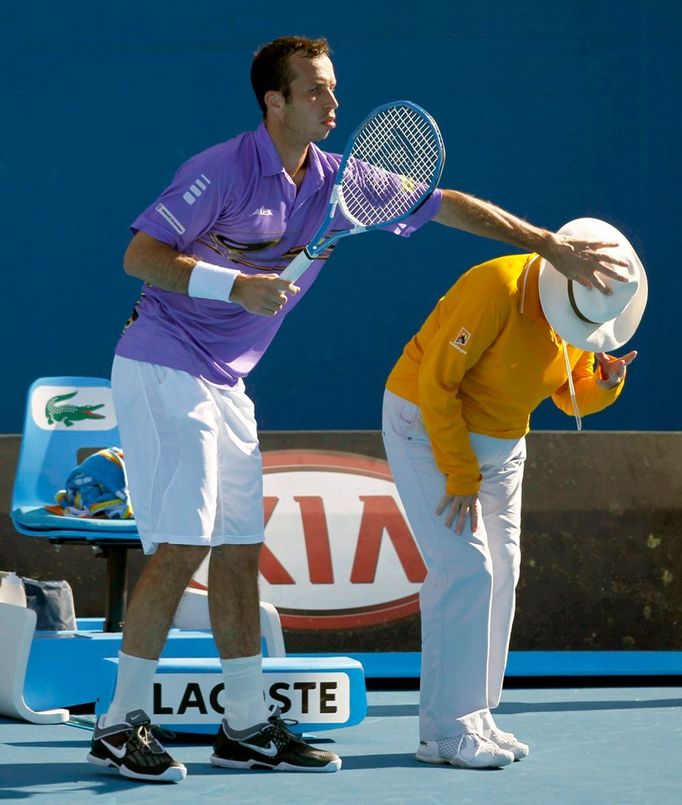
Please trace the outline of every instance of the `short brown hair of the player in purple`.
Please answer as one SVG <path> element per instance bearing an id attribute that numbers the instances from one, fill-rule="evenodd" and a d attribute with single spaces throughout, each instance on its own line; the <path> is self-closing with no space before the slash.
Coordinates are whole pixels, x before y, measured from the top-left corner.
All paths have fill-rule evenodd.
<path id="1" fill-rule="evenodd" d="M 281 36 L 258 49 L 251 63 L 251 86 L 256 93 L 258 105 L 265 115 L 265 93 L 274 90 L 289 98 L 289 85 L 294 76 L 289 66 L 289 56 L 315 59 L 329 56 L 326 39 L 308 39 L 306 36 Z"/>

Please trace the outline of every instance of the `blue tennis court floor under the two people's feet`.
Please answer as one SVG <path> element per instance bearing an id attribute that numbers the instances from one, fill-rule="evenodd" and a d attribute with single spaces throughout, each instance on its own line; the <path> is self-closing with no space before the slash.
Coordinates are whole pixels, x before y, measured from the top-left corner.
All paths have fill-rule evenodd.
<path id="1" fill-rule="evenodd" d="M 57 726 L 0 720 L 0 798 L 45 803 L 270 802 L 666 805 L 682 795 L 682 686 L 505 691 L 499 725 L 531 746 L 505 769 L 468 771 L 414 759 L 414 690 L 370 691 L 365 720 L 319 734 L 343 758 L 337 774 L 231 772 L 208 763 L 206 738 L 169 744 L 179 784 L 136 784 L 85 761 L 91 717 Z"/>

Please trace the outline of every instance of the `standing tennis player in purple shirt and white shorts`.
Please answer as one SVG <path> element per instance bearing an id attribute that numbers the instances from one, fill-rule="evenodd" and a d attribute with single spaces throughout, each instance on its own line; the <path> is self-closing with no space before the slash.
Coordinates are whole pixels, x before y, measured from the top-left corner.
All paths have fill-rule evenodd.
<path id="1" fill-rule="evenodd" d="M 226 686 L 211 761 L 305 772 L 341 766 L 293 735 L 264 700 L 262 470 L 243 382 L 328 256 L 298 285 L 279 277 L 322 219 L 340 162 L 315 145 L 336 126 L 339 105 L 327 42 L 277 39 L 256 54 L 251 80 L 260 126 L 186 162 L 132 224 L 124 258 L 145 285 L 116 347 L 112 389 L 150 558 L 89 760 L 136 780 L 186 775 L 151 732 L 152 679 L 180 597 L 209 549 L 209 609 Z M 602 275 L 618 274 L 603 242 L 539 229 L 456 191 L 434 192 L 393 231 L 409 236 L 430 219 L 537 251 L 586 285 L 603 287 Z"/>

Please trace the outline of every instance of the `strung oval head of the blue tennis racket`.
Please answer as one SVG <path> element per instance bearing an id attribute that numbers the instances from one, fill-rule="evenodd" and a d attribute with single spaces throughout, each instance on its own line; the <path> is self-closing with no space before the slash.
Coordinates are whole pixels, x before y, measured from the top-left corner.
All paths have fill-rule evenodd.
<path id="1" fill-rule="evenodd" d="M 339 200 L 356 224 L 388 223 L 419 206 L 442 162 L 442 141 L 430 119 L 408 106 L 390 107 L 356 134 Z"/>

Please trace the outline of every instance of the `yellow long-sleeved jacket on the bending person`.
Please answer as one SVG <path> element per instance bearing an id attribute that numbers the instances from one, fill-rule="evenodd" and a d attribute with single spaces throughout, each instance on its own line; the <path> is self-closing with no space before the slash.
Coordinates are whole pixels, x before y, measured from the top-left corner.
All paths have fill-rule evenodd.
<path id="1" fill-rule="evenodd" d="M 519 439 L 549 396 L 573 414 L 562 341 L 540 306 L 539 267 L 537 255 L 520 254 L 463 274 L 407 343 L 386 383 L 421 409 L 450 495 L 478 492 L 470 431 Z M 567 347 L 581 415 L 601 411 L 623 383 L 598 385 L 594 354 Z"/>

